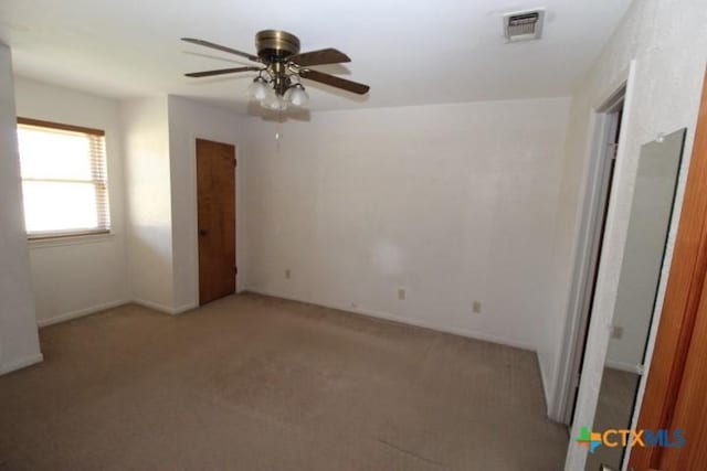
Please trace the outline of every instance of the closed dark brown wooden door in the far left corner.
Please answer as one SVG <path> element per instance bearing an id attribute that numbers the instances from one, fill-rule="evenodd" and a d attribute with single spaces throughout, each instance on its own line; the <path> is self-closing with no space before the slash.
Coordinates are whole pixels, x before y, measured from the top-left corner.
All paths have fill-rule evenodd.
<path id="1" fill-rule="evenodd" d="M 199 304 L 235 292 L 235 148 L 197 139 Z"/>

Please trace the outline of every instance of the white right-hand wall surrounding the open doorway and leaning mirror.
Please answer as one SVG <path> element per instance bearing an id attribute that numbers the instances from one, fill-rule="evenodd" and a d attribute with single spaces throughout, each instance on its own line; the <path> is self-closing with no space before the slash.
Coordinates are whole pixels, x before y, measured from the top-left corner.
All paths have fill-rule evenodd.
<path id="1" fill-rule="evenodd" d="M 558 339 L 561 352 L 562 325 L 567 321 L 566 304 L 573 264 L 573 240 L 579 227 L 579 206 L 588 167 L 587 147 L 592 109 L 602 97 L 612 92 L 631 60 L 636 60 L 633 100 L 625 109 L 625 126 L 621 153 L 609 210 L 604 256 L 600 266 L 594 298 L 594 315 L 590 327 L 587 361 L 582 372 L 574 430 L 593 422 L 601 373 L 609 344 L 616 300 L 616 283 L 626 236 L 629 214 L 640 148 L 659 132 L 672 132 L 687 127 L 685 161 L 678 185 L 677 206 L 682 205 L 685 171 L 693 148 L 700 87 L 707 58 L 707 9 L 703 0 L 643 0 L 633 2 L 622 24 L 609 41 L 598 62 L 579 87 L 573 101 L 568 130 L 566 167 L 562 171 L 559 217 L 556 232 L 558 258 L 556 260 L 558 300 L 557 325 L 552 336 Z M 669 267 L 679 211 L 674 214 L 668 249 L 663 272 Z M 663 277 L 658 290 L 656 312 L 659 313 L 665 292 Z M 656 320 L 659 315 L 656 315 Z M 655 329 L 657 322 L 654 323 Z M 645 378 L 644 378 L 645 381 Z M 642 386 L 643 387 L 643 386 Z M 640 406 L 640 405 L 639 405 Z M 570 445 L 568 470 L 584 468 L 587 450 Z"/>

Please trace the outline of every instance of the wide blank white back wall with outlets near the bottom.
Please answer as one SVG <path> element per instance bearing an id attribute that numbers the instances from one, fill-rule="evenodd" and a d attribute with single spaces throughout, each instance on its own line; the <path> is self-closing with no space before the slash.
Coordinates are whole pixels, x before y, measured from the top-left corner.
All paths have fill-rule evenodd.
<path id="1" fill-rule="evenodd" d="M 568 113 L 556 98 L 252 120 L 247 288 L 539 350 Z"/>

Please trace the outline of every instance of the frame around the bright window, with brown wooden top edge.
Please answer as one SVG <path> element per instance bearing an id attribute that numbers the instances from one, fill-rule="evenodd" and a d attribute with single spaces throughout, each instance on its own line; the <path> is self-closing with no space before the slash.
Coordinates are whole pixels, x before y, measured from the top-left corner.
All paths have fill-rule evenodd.
<path id="1" fill-rule="evenodd" d="M 46 128 L 46 129 L 54 129 L 54 130 L 60 130 L 60 131 L 70 131 L 70 132 L 81 132 L 84 135 L 89 135 L 93 137 L 98 137 L 103 139 L 103 150 L 104 150 L 104 165 L 105 165 L 105 182 L 104 185 L 105 188 L 103 189 L 103 191 L 105 192 L 105 199 L 106 199 L 106 208 L 105 208 L 105 213 L 106 213 L 106 218 L 107 218 L 107 227 L 105 228 L 96 228 L 96 229 L 86 229 L 86 228 L 76 228 L 76 229 L 61 229 L 61 231 L 56 231 L 56 232 L 51 232 L 51 231 L 44 231 L 44 232 L 38 232 L 34 234 L 31 234 L 29 232 L 27 232 L 25 228 L 25 234 L 27 234 L 27 238 L 28 242 L 48 242 L 48 240 L 61 240 L 61 239 L 68 239 L 72 237 L 91 237 L 91 236 L 106 236 L 106 235 L 112 235 L 113 234 L 113 224 L 112 224 L 112 217 L 110 217 L 110 202 L 109 202 L 109 185 L 108 185 L 108 157 L 107 157 L 107 152 L 105 149 L 105 137 L 106 137 L 106 131 L 103 129 L 97 129 L 97 128 L 88 128 L 88 127 L 84 127 L 84 126 L 75 126 L 75 125 L 67 125 L 64 122 L 54 122 L 54 121 L 46 121 L 43 119 L 34 119 L 34 118 L 25 118 L 25 117 L 20 117 L 18 116 L 17 118 L 17 125 L 18 127 L 20 125 L 23 126 L 33 126 L 33 127 L 38 127 L 38 128 Z M 19 152 L 19 147 L 18 147 L 18 158 L 20 159 L 20 165 L 22 164 L 22 156 L 20 156 Z M 20 175 L 20 180 L 21 183 L 24 183 L 24 178 L 22 178 L 22 175 Z M 68 180 L 67 180 L 68 182 Z M 96 180 L 93 181 L 94 184 L 96 184 Z M 94 204 L 96 205 L 96 210 L 98 211 L 98 201 L 97 197 L 94 201 Z M 24 208 L 22 210 L 24 212 Z"/>

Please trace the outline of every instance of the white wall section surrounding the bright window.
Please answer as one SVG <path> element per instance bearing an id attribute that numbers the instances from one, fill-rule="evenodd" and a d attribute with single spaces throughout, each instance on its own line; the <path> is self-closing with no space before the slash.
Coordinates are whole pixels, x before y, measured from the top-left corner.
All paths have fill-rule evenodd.
<path id="1" fill-rule="evenodd" d="M 112 235 L 30 243 L 38 322 L 43 325 L 128 300 L 118 103 L 15 78 L 18 116 L 106 131 Z"/>

